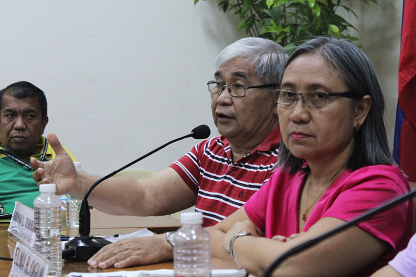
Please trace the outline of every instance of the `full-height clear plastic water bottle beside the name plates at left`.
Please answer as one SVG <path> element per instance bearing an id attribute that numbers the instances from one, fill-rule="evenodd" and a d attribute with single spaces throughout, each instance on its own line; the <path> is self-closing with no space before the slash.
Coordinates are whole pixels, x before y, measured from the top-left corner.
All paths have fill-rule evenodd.
<path id="1" fill-rule="evenodd" d="M 61 201 L 55 184 L 39 186 L 41 194 L 33 201 L 35 243 L 33 247 L 49 261 L 47 276 L 60 277 L 62 269 Z"/>

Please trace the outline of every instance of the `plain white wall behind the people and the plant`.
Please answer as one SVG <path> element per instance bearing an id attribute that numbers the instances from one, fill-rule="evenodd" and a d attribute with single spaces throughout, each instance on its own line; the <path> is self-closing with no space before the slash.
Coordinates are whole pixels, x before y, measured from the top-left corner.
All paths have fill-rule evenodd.
<path id="1" fill-rule="evenodd" d="M 354 9 L 387 93 L 392 143 L 401 0 L 378 2 Z M 214 0 L 1 1 L 0 87 L 25 80 L 43 89 L 46 133 L 57 133 L 84 170 L 107 174 L 197 125 L 217 134 L 206 83 L 220 50 L 244 36 L 237 24 Z M 161 170 L 196 143 L 133 168 Z"/>

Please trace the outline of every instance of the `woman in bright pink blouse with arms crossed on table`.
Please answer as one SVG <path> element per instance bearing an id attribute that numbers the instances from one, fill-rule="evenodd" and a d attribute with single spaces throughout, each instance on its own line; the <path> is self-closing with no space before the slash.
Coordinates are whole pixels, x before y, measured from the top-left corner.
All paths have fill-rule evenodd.
<path id="1" fill-rule="evenodd" d="M 214 266 L 261 276 L 287 250 L 409 189 L 388 149 L 376 73 L 358 47 L 312 39 L 291 54 L 281 81 L 278 168 L 210 230 Z M 375 215 L 289 257 L 274 276 L 368 276 L 406 246 L 412 209 Z"/>

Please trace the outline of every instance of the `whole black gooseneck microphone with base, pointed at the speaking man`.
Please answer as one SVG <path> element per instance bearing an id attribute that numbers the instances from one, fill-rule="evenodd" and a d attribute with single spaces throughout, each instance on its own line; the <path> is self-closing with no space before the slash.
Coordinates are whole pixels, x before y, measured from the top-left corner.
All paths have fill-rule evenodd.
<path id="1" fill-rule="evenodd" d="M 108 240 L 105 240 L 101 237 L 94 237 L 90 235 L 90 227 L 91 227 L 91 214 L 90 209 L 88 207 L 88 196 L 92 192 L 92 190 L 100 184 L 102 181 L 107 180 L 108 178 L 116 175 L 116 173 L 120 172 L 121 170 L 124 170 L 128 168 L 129 166 L 141 161 L 142 159 L 150 156 L 151 154 L 159 151 L 162 148 L 165 148 L 166 146 L 180 141 L 182 139 L 193 137 L 194 139 L 205 139 L 208 138 L 211 131 L 207 125 L 200 125 L 198 127 L 195 127 L 192 129 L 192 131 L 180 138 L 174 139 L 168 143 L 165 143 L 161 147 L 154 149 L 150 151 L 149 153 L 139 157 L 138 159 L 134 160 L 133 162 L 123 166 L 122 168 L 115 170 L 111 172 L 110 174 L 105 175 L 101 179 L 98 179 L 95 183 L 92 184 L 92 186 L 87 190 L 84 196 L 84 200 L 82 200 L 81 203 L 81 210 L 79 212 L 79 235 L 77 235 L 74 239 L 68 241 L 65 244 L 65 252 L 68 253 L 68 250 L 75 249 L 75 257 L 69 257 L 71 259 L 77 260 L 77 261 L 87 261 L 90 259 L 95 253 L 97 253 L 102 247 L 110 244 Z M 67 250 L 67 251 L 66 251 Z M 73 255 L 73 251 L 70 252 L 71 255 Z M 68 258 L 67 255 L 65 255 L 65 258 Z"/>

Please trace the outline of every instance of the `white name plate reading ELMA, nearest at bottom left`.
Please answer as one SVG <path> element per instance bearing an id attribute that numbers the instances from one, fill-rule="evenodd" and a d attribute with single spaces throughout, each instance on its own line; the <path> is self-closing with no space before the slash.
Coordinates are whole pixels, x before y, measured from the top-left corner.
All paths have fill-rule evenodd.
<path id="1" fill-rule="evenodd" d="M 24 243 L 16 242 L 9 277 L 46 277 L 48 269 L 45 257 Z"/>

